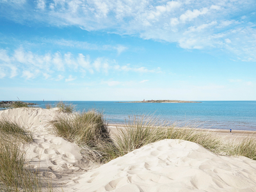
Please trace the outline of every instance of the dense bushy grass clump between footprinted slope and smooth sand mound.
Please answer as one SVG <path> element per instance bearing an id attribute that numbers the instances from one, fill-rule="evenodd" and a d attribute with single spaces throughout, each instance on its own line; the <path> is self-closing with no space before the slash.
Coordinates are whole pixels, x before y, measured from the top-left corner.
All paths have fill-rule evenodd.
<path id="1" fill-rule="evenodd" d="M 113 145 L 109 136 L 108 124 L 104 120 L 103 113 L 91 109 L 72 115 L 62 114 L 51 122 L 51 132 L 74 142 L 81 147 L 86 159 L 106 162 L 106 145 Z"/>

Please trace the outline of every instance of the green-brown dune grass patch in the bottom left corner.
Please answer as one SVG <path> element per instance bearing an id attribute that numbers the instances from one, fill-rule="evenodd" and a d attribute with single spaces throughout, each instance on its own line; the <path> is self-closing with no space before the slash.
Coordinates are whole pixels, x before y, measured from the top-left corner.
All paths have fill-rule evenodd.
<path id="1" fill-rule="evenodd" d="M 26 132 L 10 120 L 0 121 L 0 191 L 51 191 L 35 170 L 27 165 L 24 145 L 31 143 L 31 132 Z"/>

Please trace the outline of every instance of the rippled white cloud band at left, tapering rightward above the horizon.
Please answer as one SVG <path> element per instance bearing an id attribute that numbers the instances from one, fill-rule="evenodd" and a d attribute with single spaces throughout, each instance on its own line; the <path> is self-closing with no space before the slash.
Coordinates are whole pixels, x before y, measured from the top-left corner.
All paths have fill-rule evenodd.
<path id="1" fill-rule="evenodd" d="M 65 76 L 68 76 L 65 79 L 68 82 L 77 78 L 71 76 L 70 73 L 84 77 L 88 74 L 91 76 L 97 76 L 97 74 L 108 75 L 109 71 L 141 74 L 159 72 L 159 68 L 152 70 L 146 67 L 131 67 L 129 64 L 116 65 L 116 61 L 106 58 L 92 60 L 89 55 L 82 53 L 74 55 L 71 52 L 65 54 L 54 52 L 53 54 L 38 55 L 20 47 L 13 51 L 13 54 L 1 49 L 0 56 L 0 78 L 21 76 L 25 79 L 34 79 L 41 76 L 44 79 L 50 79 L 50 77 L 57 76 L 56 81 L 61 81 Z"/>

